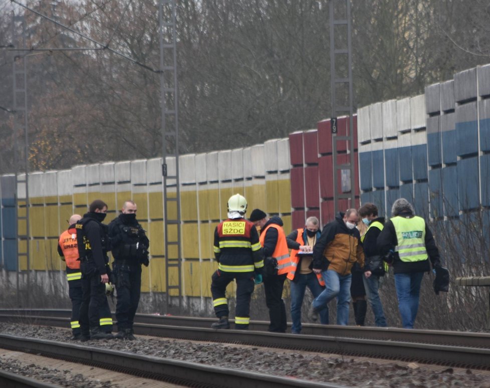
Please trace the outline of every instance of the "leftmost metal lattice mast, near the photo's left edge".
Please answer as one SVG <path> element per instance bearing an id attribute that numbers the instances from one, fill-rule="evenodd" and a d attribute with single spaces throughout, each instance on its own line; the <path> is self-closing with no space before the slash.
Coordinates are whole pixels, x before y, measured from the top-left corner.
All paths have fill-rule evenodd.
<path id="1" fill-rule="evenodd" d="M 12 39 L 15 47 L 26 47 L 26 23 L 24 16 L 12 14 Z M 29 227 L 29 138 L 27 104 L 27 57 L 14 56 L 13 62 L 14 92 L 14 164 L 15 164 L 15 211 L 16 211 L 16 252 L 17 263 L 17 305 L 20 305 L 19 274 L 21 266 L 26 264 L 26 300 L 30 307 L 30 227 Z M 24 141 L 22 141 L 24 134 Z M 24 178 L 21 179 L 21 175 Z M 25 249 L 23 248 L 25 243 Z M 23 260 L 24 259 L 24 260 Z"/>

